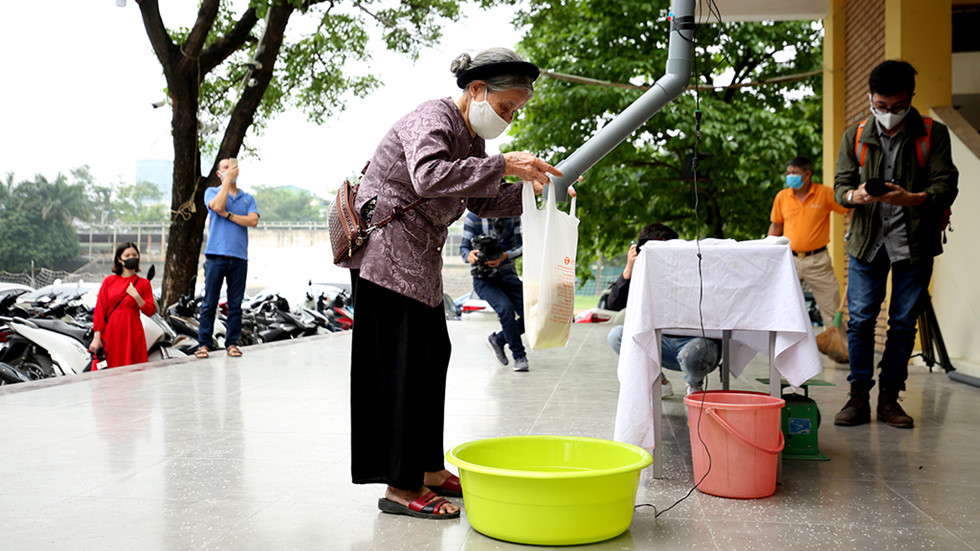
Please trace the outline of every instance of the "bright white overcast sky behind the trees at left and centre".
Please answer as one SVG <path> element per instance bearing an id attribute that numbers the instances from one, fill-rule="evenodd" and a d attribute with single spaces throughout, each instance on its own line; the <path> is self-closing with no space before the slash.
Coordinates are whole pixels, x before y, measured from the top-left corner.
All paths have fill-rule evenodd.
<path id="1" fill-rule="evenodd" d="M 197 14 L 198 0 L 160 3 L 170 28 L 190 26 Z M 329 196 L 398 118 L 428 99 L 459 95 L 453 58 L 520 40 L 513 8 L 466 12 L 416 62 L 375 44 L 372 70 L 384 85 L 351 98 L 323 125 L 299 111 L 272 120 L 264 136 L 249 138 L 260 158 L 242 155 L 239 185 L 294 185 Z M 116 0 L 5 3 L 0 64 L 0 176 L 53 179 L 88 165 L 99 183 L 133 183 L 137 160 L 173 159 L 171 111 L 151 105 L 165 99 L 166 82 L 135 0 L 122 8 Z M 488 151 L 504 139 L 489 142 Z"/>

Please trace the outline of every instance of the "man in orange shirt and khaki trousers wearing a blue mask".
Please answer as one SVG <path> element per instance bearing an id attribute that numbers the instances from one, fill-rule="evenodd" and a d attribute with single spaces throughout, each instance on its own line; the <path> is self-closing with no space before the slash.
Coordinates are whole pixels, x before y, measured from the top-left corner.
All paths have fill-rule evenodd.
<path id="1" fill-rule="evenodd" d="M 830 242 L 830 213 L 848 209 L 834 201 L 834 190 L 812 181 L 813 163 L 796 157 L 786 164 L 786 189 L 776 194 L 769 219 L 769 235 L 785 235 L 793 249 L 800 282 L 806 281 L 830 327 L 840 306 L 840 283 L 827 253 Z"/>

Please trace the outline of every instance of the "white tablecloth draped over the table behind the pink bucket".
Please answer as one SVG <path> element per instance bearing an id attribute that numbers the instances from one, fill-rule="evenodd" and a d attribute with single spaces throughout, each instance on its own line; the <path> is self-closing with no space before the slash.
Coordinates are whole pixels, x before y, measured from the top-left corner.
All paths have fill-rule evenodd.
<path id="1" fill-rule="evenodd" d="M 756 353 L 769 354 L 793 387 L 823 369 L 806 302 L 785 238 L 700 242 L 703 327 L 709 337 L 731 330 L 729 364 L 736 377 Z M 656 330 L 700 334 L 698 243 L 648 241 L 633 266 L 623 345 L 614 438 L 653 448 L 653 381 L 660 375 Z M 678 331 L 694 329 L 695 331 Z"/>

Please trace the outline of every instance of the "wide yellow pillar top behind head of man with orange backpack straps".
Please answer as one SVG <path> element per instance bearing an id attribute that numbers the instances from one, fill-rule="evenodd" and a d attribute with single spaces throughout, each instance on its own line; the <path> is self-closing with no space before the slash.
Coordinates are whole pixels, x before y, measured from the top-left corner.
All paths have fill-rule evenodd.
<path id="1" fill-rule="evenodd" d="M 915 99 L 923 116 L 953 102 L 953 0 L 885 0 L 885 58 L 915 67 Z"/>

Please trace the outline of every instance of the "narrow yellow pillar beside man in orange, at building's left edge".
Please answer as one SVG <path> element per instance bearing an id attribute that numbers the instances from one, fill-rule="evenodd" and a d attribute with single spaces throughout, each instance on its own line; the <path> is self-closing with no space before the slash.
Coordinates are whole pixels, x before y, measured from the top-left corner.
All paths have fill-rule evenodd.
<path id="1" fill-rule="evenodd" d="M 844 135 L 844 1 L 831 0 L 823 39 L 823 183 L 834 187 L 837 149 Z M 831 213 L 827 245 L 838 280 L 843 281 L 844 217 Z"/>

